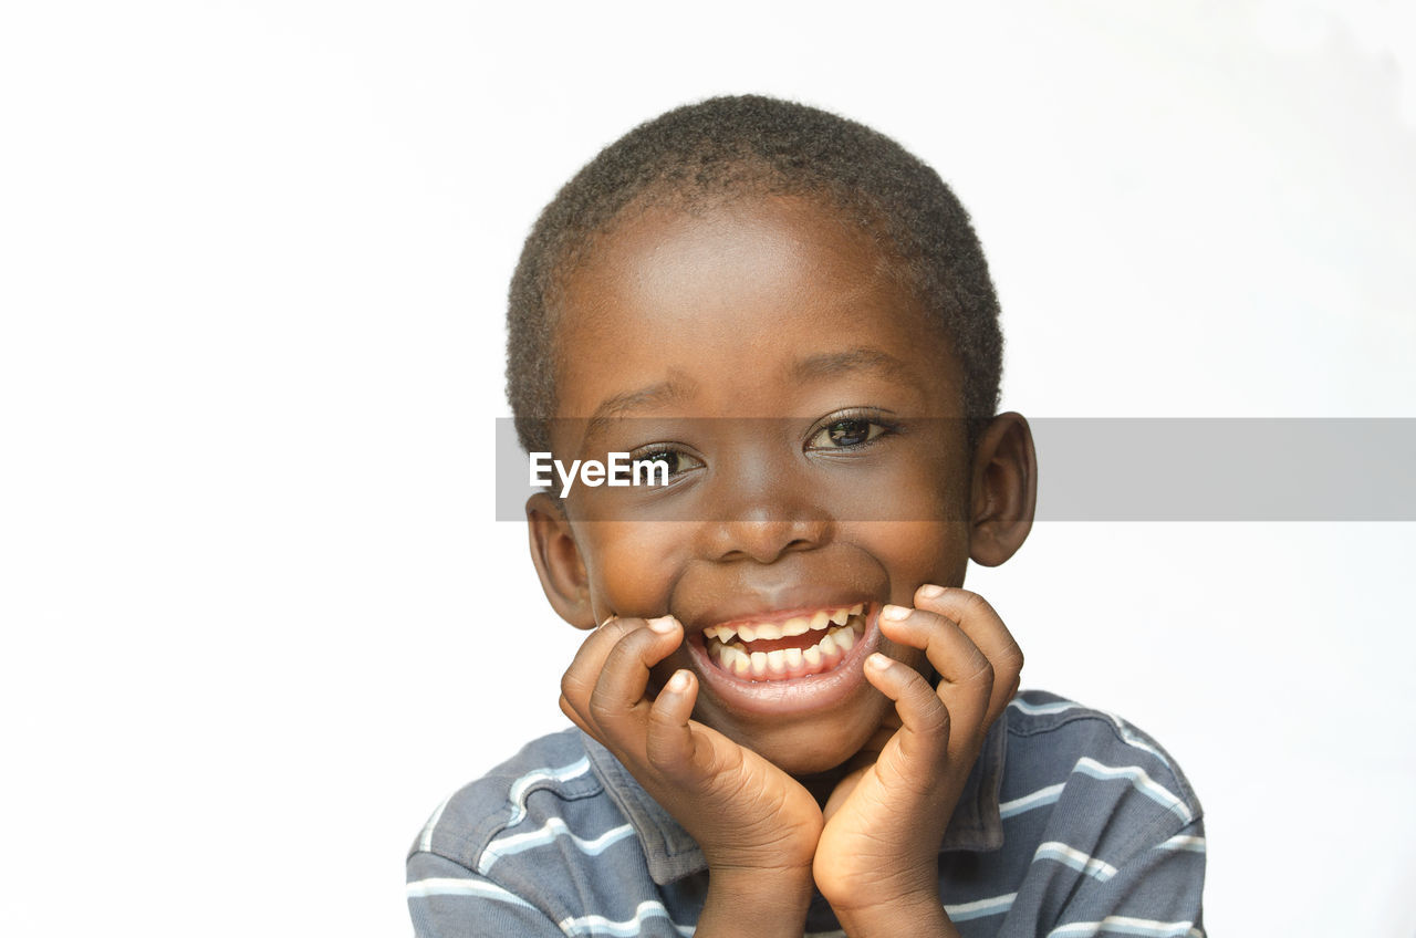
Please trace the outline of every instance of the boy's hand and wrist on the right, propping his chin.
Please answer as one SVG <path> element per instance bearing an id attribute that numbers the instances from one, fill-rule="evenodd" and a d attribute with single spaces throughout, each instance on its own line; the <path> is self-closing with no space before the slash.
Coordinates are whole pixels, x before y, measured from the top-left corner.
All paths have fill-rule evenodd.
<path id="1" fill-rule="evenodd" d="M 885 606 L 879 629 L 923 650 L 939 687 L 885 655 L 867 659 L 896 718 L 831 792 L 816 850 L 817 887 L 851 935 L 954 934 L 939 903 L 939 846 L 1022 670 L 1018 643 L 977 594 L 926 585 L 915 605 Z"/>

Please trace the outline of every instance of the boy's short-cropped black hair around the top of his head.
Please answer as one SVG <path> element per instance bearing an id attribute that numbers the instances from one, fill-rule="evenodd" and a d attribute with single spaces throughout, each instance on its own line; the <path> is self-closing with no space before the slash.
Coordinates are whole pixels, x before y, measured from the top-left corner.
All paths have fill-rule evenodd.
<path id="1" fill-rule="evenodd" d="M 776 98 L 709 98 L 600 150 L 545 207 L 511 278 L 507 397 L 517 436 L 549 451 L 556 292 L 633 205 L 695 207 L 742 194 L 827 200 L 882 241 L 963 371 L 969 438 L 993 417 L 1003 371 L 998 298 L 969 214 L 939 174 L 855 120 Z"/>

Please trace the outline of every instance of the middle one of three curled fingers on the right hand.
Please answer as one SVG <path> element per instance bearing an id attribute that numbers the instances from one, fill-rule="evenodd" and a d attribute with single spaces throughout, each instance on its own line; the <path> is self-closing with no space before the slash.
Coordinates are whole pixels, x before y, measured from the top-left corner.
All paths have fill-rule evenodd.
<path id="1" fill-rule="evenodd" d="M 939 673 L 939 697 L 954 721 L 954 734 L 966 740 L 983 735 L 993 694 L 993 665 L 957 623 L 927 609 L 885 606 L 881 633 L 892 642 L 923 649 Z"/>

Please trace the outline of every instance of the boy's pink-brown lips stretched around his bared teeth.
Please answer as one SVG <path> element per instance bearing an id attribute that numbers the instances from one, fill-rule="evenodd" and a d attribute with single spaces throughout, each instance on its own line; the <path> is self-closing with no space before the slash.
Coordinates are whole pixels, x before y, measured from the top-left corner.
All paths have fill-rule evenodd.
<path id="1" fill-rule="evenodd" d="M 700 680 L 728 710 L 753 716 L 790 716 L 823 710 L 840 704 L 857 693 L 861 686 L 867 684 L 864 660 L 871 652 L 879 648 L 881 640 L 879 602 L 857 597 L 843 602 L 827 602 L 789 611 L 775 609 L 760 615 L 741 615 L 712 623 L 731 625 L 742 621 L 777 622 L 796 615 L 810 615 L 823 608 L 851 606 L 858 602 L 865 604 L 867 608 L 865 635 L 851 646 L 851 650 L 845 653 L 845 657 L 835 667 L 818 674 L 804 674 L 789 680 L 743 680 L 729 674 L 708 659 L 702 629 L 692 631 L 685 645 L 688 646 L 688 653 Z"/>

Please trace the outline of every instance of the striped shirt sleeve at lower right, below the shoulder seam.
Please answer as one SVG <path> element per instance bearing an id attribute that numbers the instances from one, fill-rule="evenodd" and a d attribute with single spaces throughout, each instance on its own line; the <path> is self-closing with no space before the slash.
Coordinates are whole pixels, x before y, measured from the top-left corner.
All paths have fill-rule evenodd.
<path id="1" fill-rule="evenodd" d="M 1048 938 L 1146 935 L 1204 938 L 1205 827 L 1174 822 L 1148 837 L 1119 867 L 1090 861 Z"/>

